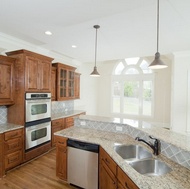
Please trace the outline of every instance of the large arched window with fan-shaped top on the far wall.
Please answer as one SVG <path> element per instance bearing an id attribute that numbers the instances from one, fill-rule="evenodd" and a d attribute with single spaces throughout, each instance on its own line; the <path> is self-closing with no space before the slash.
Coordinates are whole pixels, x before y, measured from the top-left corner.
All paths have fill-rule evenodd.
<path id="1" fill-rule="evenodd" d="M 126 58 L 113 70 L 112 113 L 119 117 L 153 115 L 154 74 L 144 58 Z"/>

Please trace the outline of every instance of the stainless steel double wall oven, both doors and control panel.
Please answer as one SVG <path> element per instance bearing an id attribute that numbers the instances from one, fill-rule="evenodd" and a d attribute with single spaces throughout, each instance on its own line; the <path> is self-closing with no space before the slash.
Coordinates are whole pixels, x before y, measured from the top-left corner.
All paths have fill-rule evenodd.
<path id="1" fill-rule="evenodd" d="M 25 151 L 51 141 L 51 93 L 26 93 Z"/>

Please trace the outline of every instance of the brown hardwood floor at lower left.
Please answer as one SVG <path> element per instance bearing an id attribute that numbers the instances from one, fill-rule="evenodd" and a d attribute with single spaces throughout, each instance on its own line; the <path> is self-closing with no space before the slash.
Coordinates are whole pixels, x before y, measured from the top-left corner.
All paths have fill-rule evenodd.
<path id="1" fill-rule="evenodd" d="M 11 170 L 0 179 L 0 189 L 76 189 L 56 177 L 55 149 Z"/>

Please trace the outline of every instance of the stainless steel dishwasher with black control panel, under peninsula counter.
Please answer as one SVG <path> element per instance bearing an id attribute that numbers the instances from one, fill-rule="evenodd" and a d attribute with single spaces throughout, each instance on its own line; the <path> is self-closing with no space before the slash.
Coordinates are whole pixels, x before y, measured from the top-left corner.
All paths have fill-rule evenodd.
<path id="1" fill-rule="evenodd" d="M 67 141 L 68 183 L 85 189 L 98 189 L 98 152 L 96 144 Z"/>

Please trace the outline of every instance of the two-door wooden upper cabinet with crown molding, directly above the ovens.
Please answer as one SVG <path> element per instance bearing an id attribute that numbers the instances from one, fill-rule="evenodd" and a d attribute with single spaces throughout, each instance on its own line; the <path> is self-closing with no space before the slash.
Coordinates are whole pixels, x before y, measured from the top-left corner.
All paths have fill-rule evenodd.
<path id="1" fill-rule="evenodd" d="M 16 81 L 22 83 L 25 92 L 51 91 L 52 58 L 27 50 L 6 53 L 17 58 Z"/>

